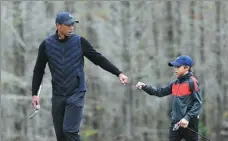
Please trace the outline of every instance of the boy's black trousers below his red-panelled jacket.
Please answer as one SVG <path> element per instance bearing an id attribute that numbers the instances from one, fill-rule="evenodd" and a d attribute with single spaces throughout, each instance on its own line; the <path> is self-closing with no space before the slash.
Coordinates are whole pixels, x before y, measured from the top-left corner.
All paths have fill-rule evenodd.
<path id="1" fill-rule="evenodd" d="M 192 130 L 198 132 L 198 118 L 192 118 L 189 121 L 188 127 Z M 198 141 L 198 135 L 188 128 L 179 128 L 176 131 L 173 131 L 174 124 L 171 124 L 169 129 L 169 141 L 181 141 L 181 139 L 185 139 L 186 141 Z"/>

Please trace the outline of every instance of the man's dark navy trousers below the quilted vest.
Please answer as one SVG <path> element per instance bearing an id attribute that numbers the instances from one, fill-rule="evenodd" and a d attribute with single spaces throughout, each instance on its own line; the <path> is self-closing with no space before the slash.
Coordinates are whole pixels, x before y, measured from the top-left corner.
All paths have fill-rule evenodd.
<path id="1" fill-rule="evenodd" d="M 72 96 L 52 96 L 52 118 L 57 141 L 81 141 L 79 128 L 85 92 Z"/>

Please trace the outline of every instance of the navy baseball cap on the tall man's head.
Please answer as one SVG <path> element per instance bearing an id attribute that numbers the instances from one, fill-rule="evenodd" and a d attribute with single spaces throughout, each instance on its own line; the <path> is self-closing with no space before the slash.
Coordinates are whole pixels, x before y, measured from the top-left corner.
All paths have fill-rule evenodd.
<path id="1" fill-rule="evenodd" d="M 57 24 L 65 24 L 65 25 L 72 25 L 74 23 L 79 23 L 79 21 L 75 20 L 73 16 L 65 11 L 61 11 L 57 14 L 55 23 Z"/>

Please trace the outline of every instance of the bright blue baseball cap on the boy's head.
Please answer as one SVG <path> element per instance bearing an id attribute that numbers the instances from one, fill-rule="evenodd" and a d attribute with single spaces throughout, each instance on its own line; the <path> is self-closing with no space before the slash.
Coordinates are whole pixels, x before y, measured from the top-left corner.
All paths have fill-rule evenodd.
<path id="1" fill-rule="evenodd" d="M 192 67 L 193 64 L 194 64 L 194 62 L 193 62 L 192 58 L 187 55 L 181 55 L 181 56 L 177 57 L 176 60 L 168 63 L 168 65 L 170 67 L 180 67 L 180 66 Z"/>

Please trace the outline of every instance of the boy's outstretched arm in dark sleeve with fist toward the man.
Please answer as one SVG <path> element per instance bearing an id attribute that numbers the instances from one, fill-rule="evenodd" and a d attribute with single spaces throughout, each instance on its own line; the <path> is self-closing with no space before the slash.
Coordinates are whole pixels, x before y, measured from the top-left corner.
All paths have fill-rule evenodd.
<path id="1" fill-rule="evenodd" d="M 164 88 L 156 88 L 153 86 L 146 85 L 143 82 L 138 82 L 136 84 L 136 87 L 138 89 L 144 90 L 149 95 L 155 95 L 158 97 L 167 96 L 172 93 L 172 84 L 169 84 L 168 86 L 166 86 Z"/>

